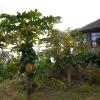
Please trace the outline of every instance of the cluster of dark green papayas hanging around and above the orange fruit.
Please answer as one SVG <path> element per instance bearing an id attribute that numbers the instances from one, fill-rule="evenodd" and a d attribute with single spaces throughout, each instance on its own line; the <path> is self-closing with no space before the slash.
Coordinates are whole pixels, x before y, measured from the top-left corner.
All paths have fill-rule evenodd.
<path id="1" fill-rule="evenodd" d="M 22 56 L 20 58 L 20 72 L 24 73 L 25 72 L 25 66 L 29 63 L 29 64 L 35 64 L 35 60 L 36 60 L 36 53 L 35 50 L 32 48 L 32 44 L 27 43 L 25 45 L 22 45 L 20 51 L 22 52 Z M 35 67 L 35 66 L 33 66 Z M 35 68 L 33 68 L 34 70 Z"/>

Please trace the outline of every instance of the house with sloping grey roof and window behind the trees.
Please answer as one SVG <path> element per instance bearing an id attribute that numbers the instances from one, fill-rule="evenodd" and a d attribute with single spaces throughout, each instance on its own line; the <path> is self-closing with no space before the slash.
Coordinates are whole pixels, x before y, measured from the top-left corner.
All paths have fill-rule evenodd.
<path id="1" fill-rule="evenodd" d="M 100 19 L 80 28 L 80 31 L 87 33 L 87 43 L 92 48 L 100 47 Z"/>

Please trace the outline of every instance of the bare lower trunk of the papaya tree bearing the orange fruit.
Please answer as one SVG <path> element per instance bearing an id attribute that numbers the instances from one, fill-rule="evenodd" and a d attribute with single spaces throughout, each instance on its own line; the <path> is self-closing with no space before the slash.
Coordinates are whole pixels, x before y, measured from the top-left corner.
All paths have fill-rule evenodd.
<path id="1" fill-rule="evenodd" d="M 25 79 L 25 100 L 32 100 L 32 84 L 31 84 L 31 79 L 28 77 L 27 73 L 25 73 L 24 79 Z"/>

